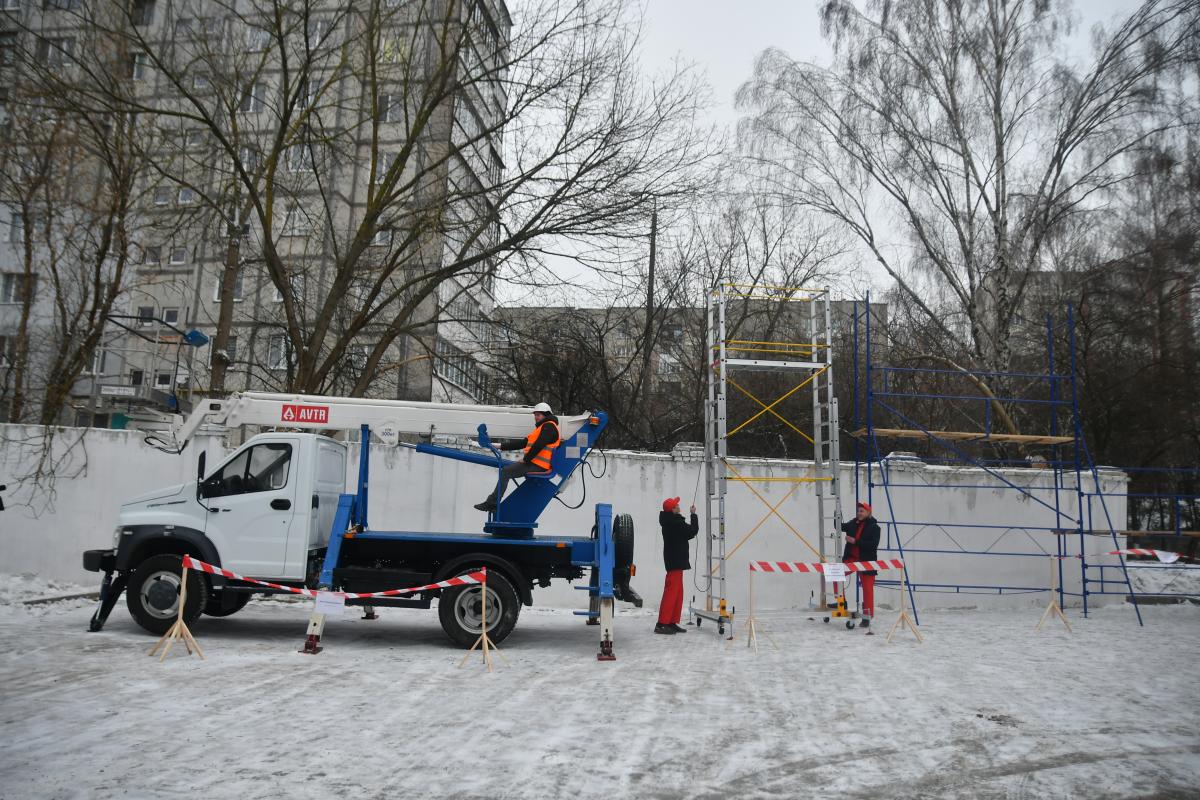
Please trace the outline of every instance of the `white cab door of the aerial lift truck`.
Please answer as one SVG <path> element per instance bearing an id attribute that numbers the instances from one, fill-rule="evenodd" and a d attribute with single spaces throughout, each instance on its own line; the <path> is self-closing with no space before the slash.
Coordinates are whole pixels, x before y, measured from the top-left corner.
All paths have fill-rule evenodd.
<path id="1" fill-rule="evenodd" d="M 296 517 L 298 445 L 286 440 L 251 445 L 202 485 L 202 501 L 209 509 L 204 533 L 227 570 L 254 578 L 284 577 L 288 533 Z"/>

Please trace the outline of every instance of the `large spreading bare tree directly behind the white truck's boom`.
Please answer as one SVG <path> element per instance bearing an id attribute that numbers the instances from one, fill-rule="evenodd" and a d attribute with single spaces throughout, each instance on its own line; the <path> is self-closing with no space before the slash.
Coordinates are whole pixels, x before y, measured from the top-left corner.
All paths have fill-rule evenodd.
<path id="1" fill-rule="evenodd" d="M 206 17 L 160 0 L 152 24 L 146 5 L 77 12 L 106 44 L 74 89 L 150 120 L 162 179 L 228 235 L 211 391 L 244 277 L 278 299 L 253 323 L 286 342 L 282 387 L 353 374 L 362 393 L 398 341 L 432 347 L 448 282 L 530 275 L 552 237 L 629 235 L 714 149 L 689 71 L 637 73 L 631 4 L 527 4 L 511 36 L 475 0 L 214 0 Z M 109 90 L 122 71 L 137 91 Z"/>

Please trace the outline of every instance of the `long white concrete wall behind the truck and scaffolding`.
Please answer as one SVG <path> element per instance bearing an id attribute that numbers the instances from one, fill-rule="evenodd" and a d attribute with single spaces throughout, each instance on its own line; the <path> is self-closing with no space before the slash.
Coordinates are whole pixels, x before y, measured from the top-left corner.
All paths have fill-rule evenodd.
<path id="1" fill-rule="evenodd" d="M 0 572 L 34 572 L 47 578 L 98 583 L 98 576 L 82 570 L 80 553 L 88 548 L 112 545 L 120 501 L 158 486 L 191 480 L 196 473 L 200 444 L 209 451 L 210 469 L 220 461 L 220 443 L 214 438 L 193 443 L 182 456 L 169 456 L 144 445 L 140 434 L 136 432 L 84 432 L 76 428 L 58 428 L 55 432 L 56 479 L 41 486 L 26 482 L 11 487 L 5 493 L 5 500 L 11 507 L 0 513 Z M 16 476 L 30 471 L 41 452 L 36 444 L 43 437 L 43 429 L 34 426 L 0 426 L 0 483 L 12 485 Z M 593 463 L 598 471 L 605 467 L 599 453 L 593 456 Z M 1054 494 L 1050 491 L 1038 493 L 1050 506 L 1045 507 L 1019 492 L 1000 488 L 1003 486 L 1002 481 L 979 469 L 930 467 L 907 461 L 890 463 L 893 511 L 888 511 L 878 470 L 874 470 L 875 516 L 883 524 L 886 547 L 895 548 L 899 531 L 899 539 L 908 551 L 906 558 L 912 581 L 930 584 L 1046 585 L 1049 559 L 919 551 L 1054 552 L 1051 534 L 1028 531 L 1022 527 L 1072 527 L 1068 518 L 1074 512 L 1073 491 L 1062 493 L 1060 503 L 1067 511 L 1067 518 L 1056 522 Z M 349 464 L 348 479 L 353 481 L 358 470 L 356 450 L 352 450 Z M 736 461 L 734 464 L 740 474 L 755 477 L 804 476 L 810 474 L 811 467 L 806 462 L 768 459 Z M 539 533 L 588 535 L 593 521 L 592 509 L 596 503 L 611 503 L 617 513 L 632 515 L 637 531 L 635 558 L 638 567 L 634 587 L 648 604 L 656 606 L 664 575 L 658 513 L 667 497 L 683 497 L 683 505 L 686 507 L 697 491 L 697 477 L 702 469 L 703 464 L 698 459 L 658 453 L 610 452 L 604 476 L 587 477 L 584 506 L 572 511 L 557 503 L 551 504 L 540 521 Z M 853 507 L 852 473 L 852 467 L 846 467 L 842 475 L 842 506 L 847 516 Z M 1004 470 L 1003 475 L 1021 486 L 1052 488 L 1052 474 L 1045 470 Z M 1124 491 L 1126 479 L 1122 474 L 1105 473 L 1103 479 L 1106 492 Z M 484 515 L 475 511 L 472 504 L 487 494 L 492 480 L 488 470 L 481 467 L 424 456 L 407 449 L 376 446 L 372 450 L 371 527 L 377 530 L 478 533 Z M 700 482 L 702 483 L 702 479 Z M 932 487 L 931 483 L 949 485 L 949 488 Z M 796 485 L 784 482 L 754 485 L 763 499 L 773 505 L 787 495 L 793 486 Z M 988 488 L 974 488 L 977 486 Z M 696 498 L 701 517 L 704 511 L 703 491 L 704 487 L 700 486 Z M 582 492 L 583 480 L 577 474 L 562 497 L 575 505 L 580 503 Z M 865 498 L 865 474 L 860 479 L 860 492 Z M 1109 512 L 1118 528 L 1123 527 L 1124 505 L 1123 498 L 1109 499 Z M 814 535 L 816 499 L 811 483 L 799 485 L 780 505 L 779 512 L 814 547 L 817 546 Z M 1103 513 L 1098 507 L 1094 513 L 1098 516 L 1094 527 L 1104 528 Z M 728 548 L 732 551 L 767 515 L 767 506 L 745 486 L 731 485 L 727 500 Z M 889 519 L 899 524 L 888 525 Z M 953 528 L 950 524 L 980 527 Z M 696 542 L 701 558 L 703 535 L 702 528 L 700 541 Z M 1084 546 L 1088 553 L 1103 552 L 1111 549 L 1111 539 L 1087 537 Z M 1068 553 L 1078 553 L 1079 547 L 1078 537 L 1072 537 Z M 881 557 L 886 555 L 894 553 L 881 553 Z M 731 603 L 743 609 L 746 565 L 750 559 L 808 563 L 816 560 L 816 557 L 784 522 L 776 517 L 767 519 L 728 560 L 726 596 Z M 692 564 L 696 565 L 696 559 Z M 1068 590 L 1078 590 L 1079 561 L 1072 559 L 1064 564 L 1066 587 Z M 890 577 L 889 573 L 880 575 L 881 581 Z M 695 588 L 701 581 L 698 572 L 694 570 L 685 581 L 685 596 L 690 600 L 695 595 L 701 600 L 703 593 Z M 755 587 L 756 602 L 763 608 L 805 606 L 810 591 L 815 589 L 817 583 L 810 576 L 760 576 Z M 574 591 L 565 583 L 538 589 L 534 599 L 539 604 L 553 606 L 581 607 L 586 602 L 583 593 Z M 894 603 L 895 599 L 894 590 L 880 591 L 882 603 Z M 918 596 L 920 607 L 1038 604 L 1045 600 L 1044 593 L 923 593 Z"/>

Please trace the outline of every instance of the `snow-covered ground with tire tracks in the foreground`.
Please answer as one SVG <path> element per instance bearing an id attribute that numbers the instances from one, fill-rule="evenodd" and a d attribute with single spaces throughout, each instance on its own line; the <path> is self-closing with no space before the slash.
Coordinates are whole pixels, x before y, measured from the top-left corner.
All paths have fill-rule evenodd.
<path id="1" fill-rule="evenodd" d="M 763 615 L 755 655 L 618 616 L 613 663 L 565 612 L 526 609 L 487 674 L 434 614 L 334 620 L 254 601 L 194 626 L 208 661 L 119 606 L 25 606 L 0 577 L 0 798 L 1195 798 L 1200 607 L 1129 607 L 1074 634 L 1040 609 L 922 614 L 925 643 Z"/>

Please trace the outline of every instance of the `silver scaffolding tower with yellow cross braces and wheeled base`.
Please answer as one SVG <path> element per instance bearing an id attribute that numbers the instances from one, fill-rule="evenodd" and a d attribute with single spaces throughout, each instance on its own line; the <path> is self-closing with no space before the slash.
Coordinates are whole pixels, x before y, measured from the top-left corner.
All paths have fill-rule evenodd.
<path id="1" fill-rule="evenodd" d="M 808 341 L 782 342 L 762 339 L 727 338 L 726 311 L 731 300 L 755 303 L 805 303 L 808 311 Z M 704 477 L 706 477 L 706 546 L 704 566 L 707 577 L 703 607 L 695 602 L 689 613 L 696 624 L 710 620 L 718 633 L 733 620 L 732 607 L 726 594 L 726 561 L 754 534 L 775 517 L 796 535 L 820 560 L 827 560 L 827 545 L 832 545 L 832 557 L 841 558 L 841 503 L 839 499 L 840 455 L 838 449 L 838 398 L 833 386 L 833 308 L 829 289 L 805 289 L 790 287 L 722 284 L 716 287 L 707 301 L 708 313 L 708 399 L 704 404 Z M 803 315 L 802 315 L 803 317 Z M 798 385 L 770 401 L 761 401 L 738 381 L 733 372 L 780 372 L 803 378 Z M 730 428 L 726 391 L 732 386 L 761 407 L 756 414 Z M 812 395 L 812 433 L 785 419 L 776 409 L 788 397 L 808 387 Z M 731 463 L 728 439 L 766 414 L 781 421 L 812 446 L 812 474 L 804 477 L 751 477 L 742 475 Z M 754 488 L 756 482 L 792 483 L 782 500 L 775 504 Z M 730 483 L 745 486 L 764 506 L 767 513 L 743 536 L 732 549 L 726 551 L 726 504 Z M 796 525 L 790 523 L 779 507 L 804 483 L 814 486 L 817 499 L 816 546 Z M 821 607 L 828 607 L 824 582 L 821 584 Z M 731 633 L 732 636 L 732 633 Z"/>

